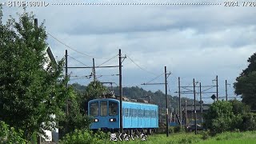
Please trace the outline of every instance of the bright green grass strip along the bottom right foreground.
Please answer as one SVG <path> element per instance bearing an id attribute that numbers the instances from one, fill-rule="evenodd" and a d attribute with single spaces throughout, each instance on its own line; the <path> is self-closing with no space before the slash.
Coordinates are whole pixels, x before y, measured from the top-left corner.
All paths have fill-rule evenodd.
<path id="1" fill-rule="evenodd" d="M 205 140 L 203 139 L 205 138 Z M 110 142 L 110 141 L 109 141 Z M 106 142 L 106 143 L 109 143 Z M 110 143 L 121 143 L 118 142 L 110 142 Z M 128 142 L 122 143 L 151 143 L 151 144 L 162 144 L 162 143 L 198 143 L 198 144 L 247 144 L 247 143 L 256 143 L 256 131 L 247 131 L 247 132 L 226 132 L 223 134 L 218 134 L 214 137 L 206 137 L 203 134 L 194 133 L 180 133 L 180 134 L 170 134 L 168 138 L 166 138 L 166 134 L 155 134 L 149 135 L 146 138 L 146 141 L 141 140 L 130 140 Z"/>

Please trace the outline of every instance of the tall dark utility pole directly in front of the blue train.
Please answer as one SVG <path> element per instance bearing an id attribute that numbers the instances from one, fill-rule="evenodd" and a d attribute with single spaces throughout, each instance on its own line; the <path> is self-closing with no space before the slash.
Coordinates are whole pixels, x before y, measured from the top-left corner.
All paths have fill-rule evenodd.
<path id="1" fill-rule="evenodd" d="M 122 134 L 123 130 L 122 130 L 122 54 L 121 54 L 121 49 L 119 49 L 118 55 L 119 55 L 120 133 Z"/>

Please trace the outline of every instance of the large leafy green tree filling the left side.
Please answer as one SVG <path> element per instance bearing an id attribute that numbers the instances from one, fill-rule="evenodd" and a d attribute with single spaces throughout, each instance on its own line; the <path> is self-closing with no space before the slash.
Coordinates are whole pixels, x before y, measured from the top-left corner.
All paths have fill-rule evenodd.
<path id="1" fill-rule="evenodd" d="M 62 112 L 68 94 L 64 61 L 46 58 L 45 27 L 34 26 L 34 14 L 25 11 L 18 22 L 1 22 L 0 29 L 0 119 L 29 140 L 55 127 L 51 114 Z"/>

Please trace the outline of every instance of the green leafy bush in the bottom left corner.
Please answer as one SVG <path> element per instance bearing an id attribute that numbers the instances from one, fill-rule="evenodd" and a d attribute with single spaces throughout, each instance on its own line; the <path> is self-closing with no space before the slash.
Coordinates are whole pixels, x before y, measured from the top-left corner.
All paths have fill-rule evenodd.
<path id="1" fill-rule="evenodd" d="M 5 122 L 0 121 L 0 143 L 26 144 L 26 140 L 22 137 L 22 130 L 18 130 L 18 132 L 16 132 L 13 127 L 10 127 Z"/>

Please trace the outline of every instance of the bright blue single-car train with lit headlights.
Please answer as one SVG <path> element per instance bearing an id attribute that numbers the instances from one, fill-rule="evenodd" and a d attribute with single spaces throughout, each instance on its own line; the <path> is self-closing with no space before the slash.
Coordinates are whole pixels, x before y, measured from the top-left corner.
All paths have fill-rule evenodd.
<path id="1" fill-rule="evenodd" d="M 88 102 L 88 115 L 94 118 L 91 130 L 118 132 L 120 128 L 120 102 L 113 98 L 99 98 Z M 158 128 L 158 106 L 142 102 L 122 101 L 122 126 L 127 133 Z"/>

